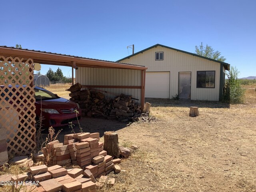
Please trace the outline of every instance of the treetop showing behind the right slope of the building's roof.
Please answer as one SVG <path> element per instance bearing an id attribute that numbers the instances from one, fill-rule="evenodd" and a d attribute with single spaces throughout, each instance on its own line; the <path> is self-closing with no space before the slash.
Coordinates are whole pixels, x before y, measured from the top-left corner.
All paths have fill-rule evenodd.
<path id="1" fill-rule="evenodd" d="M 201 42 L 201 45 L 195 46 L 195 54 L 198 54 L 200 56 L 204 56 L 204 57 L 208 57 L 214 60 L 218 60 L 218 61 L 222 61 L 224 62 L 226 60 L 226 58 L 224 58 L 224 56 L 220 56 L 221 52 L 219 51 L 214 51 L 214 49 L 212 48 L 212 46 L 209 46 L 206 44 L 206 47 L 203 46 L 203 43 Z"/>

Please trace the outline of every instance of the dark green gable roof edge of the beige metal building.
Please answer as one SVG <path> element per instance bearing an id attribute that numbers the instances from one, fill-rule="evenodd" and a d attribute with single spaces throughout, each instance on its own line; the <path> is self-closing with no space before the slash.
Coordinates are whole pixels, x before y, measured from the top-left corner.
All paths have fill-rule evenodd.
<path id="1" fill-rule="evenodd" d="M 175 48 L 168 47 L 168 46 L 161 45 L 161 44 L 155 44 L 155 45 L 153 45 L 153 46 L 151 46 L 151 47 L 149 47 L 149 48 L 146 48 L 146 49 L 144 49 L 144 50 L 141 50 L 141 51 L 139 51 L 139 52 L 136 52 L 136 53 L 134 53 L 134 54 L 132 54 L 132 55 L 129 55 L 129 56 L 125 57 L 125 58 L 122 58 L 122 59 L 120 59 L 120 60 L 117 60 L 116 62 L 120 62 L 120 61 L 122 61 L 122 60 L 128 59 L 128 58 L 130 58 L 130 57 L 132 57 L 132 56 L 135 56 L 135 55 L 137 55 L 137 54 L 140 54 L 140 53 L 142 53 L 142 52 L 145 52 L 145 51 L 147 51 L 147 50 L 149 50 L 149 49 L 152 49 L 152 48 L 154 48 L 154 47 L 157 47 L 157 46 L 161 46 L 161 47 L 168 48 L 168 49 L 171 49 L 171 50 L 175 50 L 175 51 L 179 51 L 179 52 L 182 52 L 182 53 L 190 54 L 190 55 L 192 55 L 192 56 L 200 57 L 200 58 L 207 59 L 207 60 L 210 60 L 210 61 L 218 62 L 218 63 L 220 63 L 220 64 L 223 64 L 223 66 L 224 66 L 224 68 L 225 68 L 226 70 L 230 70 L 230 64 L 228 64 L 228 63 L 225 63 L 225 62 L 222 62 L 222 61 L 218 61 L 218 60 L 214 60 L 214 59 L 211 59 L 211 58 L 208 58 L 208 57 L 200 56 L 200 55 L 197 55 L 197 54 L 194 54 L 194 53 L 182 51 L 182 50 L 175 49 Z"/>

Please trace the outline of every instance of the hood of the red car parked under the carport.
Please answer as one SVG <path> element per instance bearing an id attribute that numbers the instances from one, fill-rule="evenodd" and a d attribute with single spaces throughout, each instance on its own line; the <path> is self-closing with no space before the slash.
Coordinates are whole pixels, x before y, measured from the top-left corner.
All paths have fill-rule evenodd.
<path id="1" fill-rule="evenodd" d="M 42 108 L 48 108 L 48 109 L 52 109 L 52 108 L 53 109 L 70 109 L 70 108 L 77 107 L 75 102 L 72 102 L 64 98 L 36 101 L 36 104 L 40 105 L 40 108 L 41 108 L 41 102 L 42 102 Z"/>

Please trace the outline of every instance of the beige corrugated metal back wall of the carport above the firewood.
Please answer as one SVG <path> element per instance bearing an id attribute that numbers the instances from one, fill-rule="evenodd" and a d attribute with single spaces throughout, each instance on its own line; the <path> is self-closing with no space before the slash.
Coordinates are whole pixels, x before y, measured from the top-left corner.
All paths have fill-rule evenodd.
<path id="1" fill-rule="evenodd" d="M 141 70 L 116 69 L 116 68 L 88 68 L 79 67 L 76 70 L 76 83 L 82 85 L 99 86 L 141 86 Z M 114 98 L 114 94 L 132 95 L 133 98 L 141 100 L 141 89 L 134 88 L 95 88 L 106 91 L 108 98 Z M 110 94 L 114 93 L 114 94 Z"/>

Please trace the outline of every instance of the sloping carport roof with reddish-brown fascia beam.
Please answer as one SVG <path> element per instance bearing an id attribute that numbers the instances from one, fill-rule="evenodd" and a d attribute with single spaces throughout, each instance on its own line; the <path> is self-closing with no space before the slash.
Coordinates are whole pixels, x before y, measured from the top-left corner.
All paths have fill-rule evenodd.
<path id="1" fill-rule="evenodd" d="M 132 65 L 120 62 L 98 60 L 66 54 L 57 54 L 52 52 L 20 49 L 14 47 L 0 46 L 0 55 L 32 58 L 34 63 L 77 67 L 96 67 L 96 68 L 124 68 L 135 70 L 146 70 L 147 67 Z"/>

